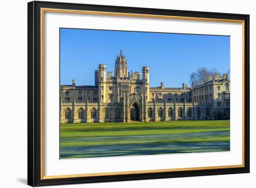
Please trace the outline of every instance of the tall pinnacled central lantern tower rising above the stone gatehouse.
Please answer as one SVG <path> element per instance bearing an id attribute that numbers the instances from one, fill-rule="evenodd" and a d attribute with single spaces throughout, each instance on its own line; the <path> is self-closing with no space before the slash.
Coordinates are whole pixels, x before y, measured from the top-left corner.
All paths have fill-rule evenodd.
<path id="1" fill-rule="evenodd" d="M 115 77 L 128 78 L 127 60 L 120 50 L 120 55 L 115 59 Z"/>

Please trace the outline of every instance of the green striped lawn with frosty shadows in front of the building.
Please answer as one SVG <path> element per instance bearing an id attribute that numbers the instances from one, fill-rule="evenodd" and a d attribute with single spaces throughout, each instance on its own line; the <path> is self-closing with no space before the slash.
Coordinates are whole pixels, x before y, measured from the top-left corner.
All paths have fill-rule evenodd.
<path id="1" fill-rule="evenodd" d="M 229 120 L 61 124 L 60 158 L 229 151 Z"/>

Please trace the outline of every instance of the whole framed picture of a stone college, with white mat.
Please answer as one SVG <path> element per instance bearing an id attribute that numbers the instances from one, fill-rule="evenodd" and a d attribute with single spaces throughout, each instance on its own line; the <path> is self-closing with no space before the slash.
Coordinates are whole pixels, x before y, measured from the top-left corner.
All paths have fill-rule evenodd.
<path id="1" fill-rule="evenodd" d="M 236 173 L 249 15 L 28 3 L 28 185 Z"/>

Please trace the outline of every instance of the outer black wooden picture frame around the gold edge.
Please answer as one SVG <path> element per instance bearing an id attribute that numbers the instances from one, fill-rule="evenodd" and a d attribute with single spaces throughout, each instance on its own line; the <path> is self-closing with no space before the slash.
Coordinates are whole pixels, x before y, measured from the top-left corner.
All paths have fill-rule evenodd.
<path id="1" fill-rule="evenodd" d="M 91 182 L 116 182 L 129 180 L 146 180 L 201 175 L 224 175 L 249 173 L 249 15 L 231 13 L 207 13 L 195 11 L 166 10 L 138 7 L 102 6 L 74 3 L 32 1 L 28 6 L 28 125 L 27 125 L 27 184 L 46 186 Z M 181 16 L 208 19 L 230 19 L 244 21 L 244 167 L 225 169 L 202 169 L 174 172 L 154 172 L 128 175 L 101 175 L 93 177 L 69 177 L 56 179 L 41 178 L 41 82 L 40 82 L 40 9 L 54 8 L 65 10 L 98 11 L 113 13 L 136 13 L 150 15 Z"/>

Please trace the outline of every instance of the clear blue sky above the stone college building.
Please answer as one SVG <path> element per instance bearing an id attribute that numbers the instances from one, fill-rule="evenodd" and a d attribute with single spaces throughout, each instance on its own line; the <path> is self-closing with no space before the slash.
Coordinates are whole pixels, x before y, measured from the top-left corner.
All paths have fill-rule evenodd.
<path id="1" fill-rule="evenodd" d="M 94 70 L 115 69 L 120 48 L 128 71 L 149 67 L 150 86 L 182 87 L 199 67 L 229 70 L 229 37 L 172 33 L 60 29 L 61 84 L 94 85 Z"/>

